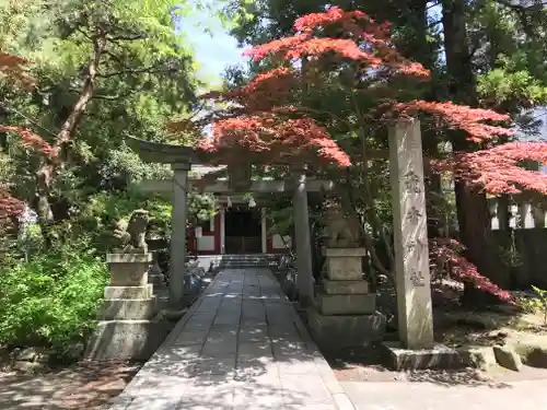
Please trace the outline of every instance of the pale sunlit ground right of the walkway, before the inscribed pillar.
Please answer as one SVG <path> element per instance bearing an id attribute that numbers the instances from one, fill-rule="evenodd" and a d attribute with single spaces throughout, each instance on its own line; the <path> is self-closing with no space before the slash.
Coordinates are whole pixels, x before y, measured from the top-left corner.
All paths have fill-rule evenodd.
<path id="1" fill-rule="evenodd" d="M 547 409 L 545 368 L 393 372 L 377 359 L 361 353 L 330 361 L 357 410 Z"/>

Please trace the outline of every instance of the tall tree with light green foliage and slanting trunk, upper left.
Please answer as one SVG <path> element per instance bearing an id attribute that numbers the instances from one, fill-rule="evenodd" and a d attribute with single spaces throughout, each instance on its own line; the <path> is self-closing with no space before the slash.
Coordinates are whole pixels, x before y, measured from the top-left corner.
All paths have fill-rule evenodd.
<path id="1" fill-rule="evenodd" d="M 7 7 L 24 21 L 26 36 L 5 47 L 35 63 L 36 90 L 24 96 L 8 91 L 0 104 L 9 122 L 38 127 L 60 151 L 58 161 L 49 161 L 24 150 L 18 161 L 18 194 L 33 203 L 48 234 L 74 204 L 67 192 L 85 197 L 97 186 L 126 186 L 104 178 L 116 174 L 105 168 L 131 165 L 124 136 L 165 140 L 166 118 L 191 107 L 198 81 L 191 54 L 174 33 L 173 1 L 32 5 L 28 16 Z M 142 164 L 132 165 L 133 176 L 142 174 Z"/>

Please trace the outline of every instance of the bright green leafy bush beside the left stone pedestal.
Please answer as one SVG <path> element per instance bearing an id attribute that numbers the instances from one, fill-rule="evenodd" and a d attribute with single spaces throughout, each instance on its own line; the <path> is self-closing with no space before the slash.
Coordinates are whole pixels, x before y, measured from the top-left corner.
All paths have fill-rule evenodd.
<path id="1" fill-rule="evenodd" d="M 108 273 L 82 249 L 65 246 L 0 268 L 1 345 L 46 348 L 60 358 L 83 345 Z"/>

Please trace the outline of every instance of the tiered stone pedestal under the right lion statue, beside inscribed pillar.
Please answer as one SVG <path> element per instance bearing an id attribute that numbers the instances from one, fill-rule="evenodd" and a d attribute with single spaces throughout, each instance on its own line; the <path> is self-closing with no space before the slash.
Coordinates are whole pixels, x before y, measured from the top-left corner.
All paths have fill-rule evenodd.
<path id="1" fill-rule="evenodd" d="M 325 279 L 317 304 L 307 311 L 307 321 L 317 343 L 338 350 L 382 339 L 385 317 L 376 312 L 376 295 L 363 280 L 361 248 L 324 250 Z"/>

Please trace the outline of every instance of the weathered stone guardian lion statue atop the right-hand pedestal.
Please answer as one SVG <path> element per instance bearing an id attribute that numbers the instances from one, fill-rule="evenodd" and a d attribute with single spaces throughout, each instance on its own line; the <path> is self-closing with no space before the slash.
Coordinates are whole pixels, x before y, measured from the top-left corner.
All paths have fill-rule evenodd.
<path id="1" fill-rule="evenodd" d="M 329 204 L 326 212 L 327 248 L 359 247 L 359 222 L 344 214 L 339 204 Z"/>

